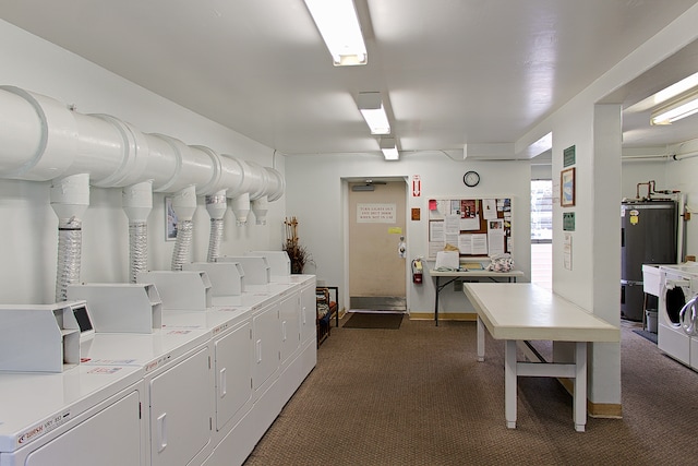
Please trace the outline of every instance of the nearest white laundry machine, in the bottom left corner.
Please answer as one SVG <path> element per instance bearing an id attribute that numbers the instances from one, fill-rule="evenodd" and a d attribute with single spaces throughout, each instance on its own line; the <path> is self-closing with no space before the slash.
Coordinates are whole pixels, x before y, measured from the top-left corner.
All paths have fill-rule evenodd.
<path id="1" fill-rule="evenodd" d="M 143 368 L 0 373 L 0 466 L 146 465 Z"/>

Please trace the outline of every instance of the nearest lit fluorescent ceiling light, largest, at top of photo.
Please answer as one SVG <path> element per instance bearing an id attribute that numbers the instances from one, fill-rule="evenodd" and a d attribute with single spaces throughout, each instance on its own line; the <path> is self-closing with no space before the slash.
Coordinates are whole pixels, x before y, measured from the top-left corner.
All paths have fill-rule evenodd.
<path id="1" fill-rule="evenodd" d="M 335 67 L 366 64 L 366 46 L 352 0 L 305 0 Z"/>

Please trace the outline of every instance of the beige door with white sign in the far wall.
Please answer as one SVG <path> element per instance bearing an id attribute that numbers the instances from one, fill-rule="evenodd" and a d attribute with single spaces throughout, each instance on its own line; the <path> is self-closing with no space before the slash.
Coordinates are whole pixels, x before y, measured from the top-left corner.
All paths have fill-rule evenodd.
<path id="1" fill-rule="evenodd" d="M 407 312 L 405 181 L 350 182 L 348 262 L 350 311 Z"/>

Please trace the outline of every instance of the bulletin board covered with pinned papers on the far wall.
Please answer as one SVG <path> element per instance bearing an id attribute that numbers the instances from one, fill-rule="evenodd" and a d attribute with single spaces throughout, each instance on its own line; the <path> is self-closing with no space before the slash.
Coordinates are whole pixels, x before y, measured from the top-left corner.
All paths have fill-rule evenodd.
<path id="1" fill-rule="evenodd" d="M 461 258 L 512 253 L 512 199 L 430 199 L 429 259 L 446 246 Z"/>

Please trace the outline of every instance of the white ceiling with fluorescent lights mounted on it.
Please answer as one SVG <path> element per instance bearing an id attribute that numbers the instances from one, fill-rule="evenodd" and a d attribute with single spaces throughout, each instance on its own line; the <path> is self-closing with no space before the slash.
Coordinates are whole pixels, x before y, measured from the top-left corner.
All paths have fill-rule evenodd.
<path id="1" fill-rule="evenodd" d="M 373 91 L 389 98 L 401 151 L 514 143 L 696 2 L 356 0 L 369 64 L 349 68 L 333 67 L 303 0 L 1 0 L 0 17 L 281 153 L 312 154 L 378 151 L 356 105 Z M 698 71 L 695 47 L 683 53 L 618 95 L 631 104 Z M 698 138 L 690 122 L 648 121 L 627 116 L 624 144 Z"/>

